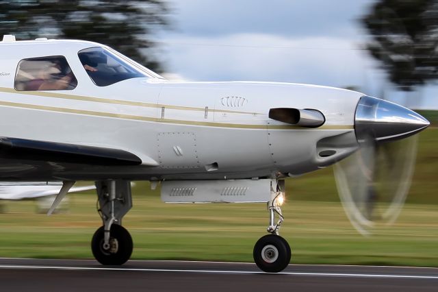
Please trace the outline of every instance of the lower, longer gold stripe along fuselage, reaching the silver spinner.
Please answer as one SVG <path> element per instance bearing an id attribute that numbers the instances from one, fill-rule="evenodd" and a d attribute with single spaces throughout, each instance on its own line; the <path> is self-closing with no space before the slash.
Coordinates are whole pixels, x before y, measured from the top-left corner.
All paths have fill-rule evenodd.
<path id="1" fill-rule="evenodd" d="M 70 114 L 86 114 L 96 117 L 112 117 L 118 119 L 128 119 L 136 121 L 152 121 L 157 123 L 174 123 L 177 125 L 202 125 L 207 127 L 228 127 L 237 129 L 270 129 L 270 130 L 351 130 L 352 125 L 323 125 L 318 128 L 298 127 L 294 125 L 248 125 L 235 123 L 214 123 L 214 122 L 198 122 L 198 121 L 182 121 L 175 119 L 157 119 L 153 117 L 134 116 L 131 114 L 114 114 L 111 112 L 94 112 L 92 110 L 75 110 L 73 108 L 57 108 L 54 106 L 38 106 L 34 104 L 18 104 L 10 101 L 0 101 L 0 106 L 11 106 L 14 108 L 29 108 L 32 110 L 48 110 L 51 112 L 67 112 Z"/>

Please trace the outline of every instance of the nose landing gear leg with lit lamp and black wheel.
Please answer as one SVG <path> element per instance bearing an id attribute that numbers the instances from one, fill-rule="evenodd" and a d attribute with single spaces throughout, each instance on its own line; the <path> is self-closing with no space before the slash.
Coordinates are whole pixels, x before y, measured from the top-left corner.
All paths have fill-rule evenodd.
<path id="1" fill-rule="evenodd" d="M 254 246 L 253 257 L 255 264 L 262 271 L 268 273 L 283 271 L 289 264 L 292 255 L 289 243 L 279 236 L 279 229 L 281 223 L 283 223 L 280 206 L 283 204 L 284 194 L 284 180 L 276 181 L 276 185 L 271 185 L 271 199 L 268 202 L 270 212 L 268 232 L 271 234 L 261 237 Z M 274 223 L 275 215 L 279 217 L 276 223 Z"/>

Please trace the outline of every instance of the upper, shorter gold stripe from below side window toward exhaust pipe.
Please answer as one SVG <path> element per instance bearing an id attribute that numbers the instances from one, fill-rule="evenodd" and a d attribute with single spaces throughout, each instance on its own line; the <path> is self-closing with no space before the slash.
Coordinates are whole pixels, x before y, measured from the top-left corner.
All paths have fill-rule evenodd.
<path id="1" fill-rule="evenodd" d="M 128 101 L 120 99 L 106 99 L 101 97 L 86 97 L 83 95 L 66 95 L 64 93 L 51 93 L 47 91 L 18 91 L 14 88 L 0 87 L 0 92 L 3 93 L 14 93 L 17 95 L 32 95 L 37 97 L 50 97 L 50 98 L 60 98 L 60 99 L 70 99 L 70 100 L 80 100 L 80 101 L 92 101 L 101 102 L 103 104 L 120 104 L 123 106 L 140 106 L 142 108 L 168 108 L 170 110 L 194 110 L 197 112 L 204 112 L 205 108 L 194 108 L 190 106 L 170 106 L 168 104 L 150 104 L 141 101 Z M 209 109 L 209 112 L 227 112 L 230 114 L 260 114 L 257 112 L 237 112 L 234 110 L 213 110 Z"/>

